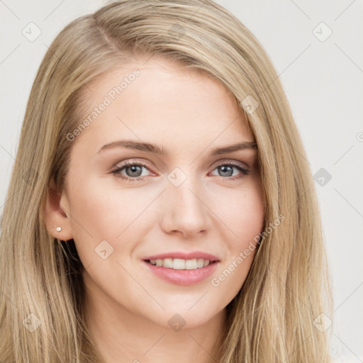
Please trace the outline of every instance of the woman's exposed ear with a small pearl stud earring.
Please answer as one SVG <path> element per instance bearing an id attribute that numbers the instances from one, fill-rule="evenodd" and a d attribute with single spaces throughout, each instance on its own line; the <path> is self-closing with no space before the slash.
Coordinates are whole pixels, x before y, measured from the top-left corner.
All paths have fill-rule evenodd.
<path id="1" fill-rule="evenodd" d="M 54 178 L 48 184 L 48 194 L 43 207 L 43 220 L 48 233 L 58 240 L 71 240 L 73 238 L 71 216 L 69 215 L 69 201 L 65 190 L 57 191 Z M 57 231 L 57 227 L 62 230 Z"/>

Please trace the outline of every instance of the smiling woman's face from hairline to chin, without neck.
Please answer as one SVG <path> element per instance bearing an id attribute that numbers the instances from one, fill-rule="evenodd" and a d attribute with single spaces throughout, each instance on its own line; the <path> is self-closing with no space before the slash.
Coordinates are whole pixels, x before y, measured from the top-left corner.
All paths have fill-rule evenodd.
<path id="1" fill-rule="evenodd" d="M 162 58 L 89 88 L 60 199 L 86 290 L 157 325 L 201 325 L 238 294 L 263 228 L 252 132 L 228 90 Z"/>

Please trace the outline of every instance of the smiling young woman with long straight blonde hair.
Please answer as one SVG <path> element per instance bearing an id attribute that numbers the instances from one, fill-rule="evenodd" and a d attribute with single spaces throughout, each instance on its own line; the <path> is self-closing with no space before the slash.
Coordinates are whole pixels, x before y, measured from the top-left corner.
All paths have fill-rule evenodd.
<path id="1" fill-rule="evenodd" d="M 1 228 L 0 362 L 329 362 L 303 145 L 218 4 L 116 1 L 62 30 Z"/>

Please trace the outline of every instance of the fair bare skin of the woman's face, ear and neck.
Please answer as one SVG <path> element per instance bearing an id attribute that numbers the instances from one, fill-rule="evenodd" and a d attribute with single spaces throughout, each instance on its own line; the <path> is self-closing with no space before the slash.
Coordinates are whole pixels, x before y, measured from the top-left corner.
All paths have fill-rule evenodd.
<path id="1" fill-rule="evenodd" d="M 45 208 L 48 231 L 74 239 L 85 267 L 87 322 L 105 363 L 162 363 L 170 357 L 174 363 L 214 362 L 225 306 L 241 289 L 256 250 L 219 286 L 211 280 L 262 232 L 264 207 L 257 150 L 210 152 L 254 138 L 227 89 L 156 56 L 90 84 L 89 110 L 135 68 L 135 81 L 72 141 L 65 188 L 55 194 L 50 183 L 57 196 Z M 98 152 L 121 139 L 156 143 L 168 154 L 124 147 Z M 143 180 L 110 172 L 127 161 L 147 164 L 136 169 Z M 230 162 L 250 173 L 228 169 Z M 167 179 L 176 167 L 186 175 L 179 186 Z M 136 179 L 136 172 L 124 168 L 118 174 Z M 102 240 L 113 247 L 106 259 L 95 252 Z M 143 262 L 150 255 L 196 250 L 220 262 L 211 277 L 191 286 L 164 281 Z M 179 331 L 168 323 L 176 313 L 185 320 Z"/>

